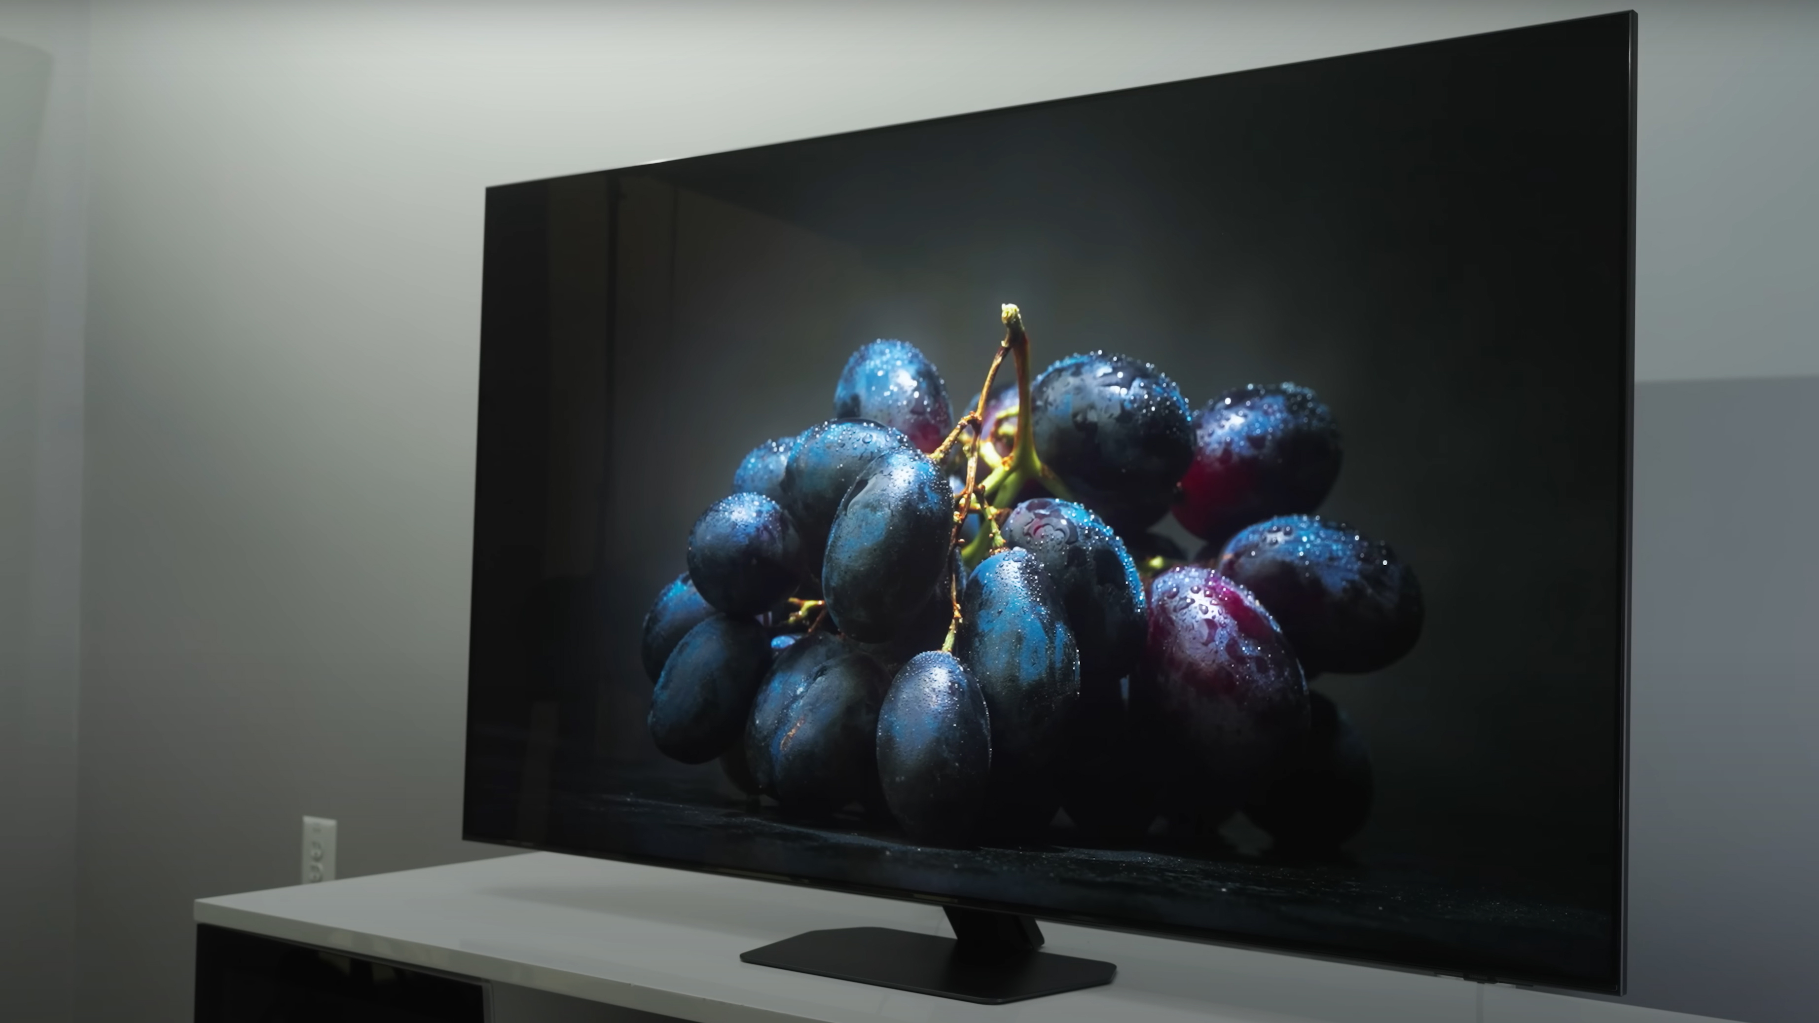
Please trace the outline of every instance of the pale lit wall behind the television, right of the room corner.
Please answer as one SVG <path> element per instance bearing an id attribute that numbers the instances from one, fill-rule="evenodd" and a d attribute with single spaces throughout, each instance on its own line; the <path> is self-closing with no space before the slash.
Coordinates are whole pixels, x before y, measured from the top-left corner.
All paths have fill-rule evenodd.
<path id="1" fill-rule="evenodd" d="M 1639 5 L 1637 373 L 1819 373 L 1815 7 Z M 300 814 L 340 819 L 344 874 L 491 852 L 455 837 L 486 186 L 1608 9 L 96 4 L 80 919 L 118 976 L 80 1018 L 187 1018 L 189 901 L 291 883 Z M 1650 686 L 1639 754 L 1668 743 Z M 1637 792 L 1650 834 L 1715 841 L 1670 795 Z M 1713 885 L 1652 856 L 1666 894 Z M 1744 888 L 1734 941 L 1804 885 Z M 1677 907 L 1632 999 L 1803 1016 L 1759 981 L 1804 956 L 1706 968 L 1710 914 Z"/>

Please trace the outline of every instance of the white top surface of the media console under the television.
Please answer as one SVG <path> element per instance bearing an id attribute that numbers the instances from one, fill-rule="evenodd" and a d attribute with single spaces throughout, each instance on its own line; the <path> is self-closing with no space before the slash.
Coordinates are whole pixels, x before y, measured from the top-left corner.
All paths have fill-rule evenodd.
<path id="1" fill-rule="evenodd" d="M 557 854 L 200 899 L 198 925 L 484 981 L 491 1023 L 1693 1023 L 1695 1016 L 1044 923 L 1110 987 L 988 1007 L 739 961 L 815 928 L 946 932 L 935 905 Z"/>

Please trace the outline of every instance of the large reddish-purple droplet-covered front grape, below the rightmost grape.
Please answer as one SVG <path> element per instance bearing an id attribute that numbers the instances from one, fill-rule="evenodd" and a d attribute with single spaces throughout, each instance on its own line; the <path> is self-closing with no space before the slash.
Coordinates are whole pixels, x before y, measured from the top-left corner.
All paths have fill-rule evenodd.
<path id="1" fill-rule="evenodd" d="M 1184 564 L 1150 584 L 1131 714 L 1153 744 L 1164 810 L 1219 819 L 1291 763 L 1308 732 L 1308 684 L 1250 592 Z"/>

